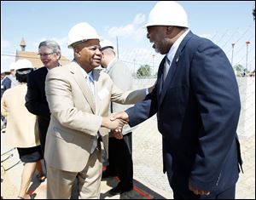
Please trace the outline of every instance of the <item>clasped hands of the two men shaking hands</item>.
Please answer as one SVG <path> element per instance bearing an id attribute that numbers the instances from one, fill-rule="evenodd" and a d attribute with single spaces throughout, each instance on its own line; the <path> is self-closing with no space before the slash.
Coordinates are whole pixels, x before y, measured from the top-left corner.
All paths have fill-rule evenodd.
<path id="1" fill-rule="evenodd" d="M 122 130 L 125 124 L 129 123 L 129 116 L 125 111 L 120 111 L 102 118 L 102 127 L 111 129 L 116 139 L 122 139 Z"/>

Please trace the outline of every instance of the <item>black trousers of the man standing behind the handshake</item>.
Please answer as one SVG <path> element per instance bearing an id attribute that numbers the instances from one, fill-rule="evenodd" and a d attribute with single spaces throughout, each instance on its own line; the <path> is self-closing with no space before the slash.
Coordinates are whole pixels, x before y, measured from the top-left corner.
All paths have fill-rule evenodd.
<path id="1" fill-rule="evenodd" d="M 108 163 L 106 172 L 119 176 L 119 185 L 124 188 L 133 187 L 132 137 L 125 134 L 122 140 L 109 138 Z"/>

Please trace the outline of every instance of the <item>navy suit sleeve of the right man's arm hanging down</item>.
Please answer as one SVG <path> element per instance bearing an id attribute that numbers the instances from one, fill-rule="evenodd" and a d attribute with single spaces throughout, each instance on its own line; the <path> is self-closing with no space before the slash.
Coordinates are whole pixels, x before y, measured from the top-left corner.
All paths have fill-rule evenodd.
<path id="1" fill-rule="evenodd" d="M 190 68 L 191 87 L 198 102 L 202 129 L 190 183 L 211 191 L 236 138 L 240 97 L 236 77 L 224 52 L 213 43 L 197 49 Z"/>

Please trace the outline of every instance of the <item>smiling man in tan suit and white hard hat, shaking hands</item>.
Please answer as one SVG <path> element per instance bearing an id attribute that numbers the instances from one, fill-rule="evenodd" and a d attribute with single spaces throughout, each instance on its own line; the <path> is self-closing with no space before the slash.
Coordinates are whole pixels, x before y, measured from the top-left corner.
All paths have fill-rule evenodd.
<path id="1" fill-rule="evenodd" d="M 45 94 L 51 119 L 45 144 L 48 172 L 47 198 L 70 198 L 76 176 L 79 198 L 99 198 L 102 176 L 100 141 L 108 151 L 109 129 L 124 122 L 110 121 L 110 100 L 134 104 L 146 96 L 145 89 L 123 92 L 107 73 L 96 70 L 102 51 L 96 30 L 79 23 L 68 33 L 74 60 L 50 70 Z M 96 145 L 95 145 L 96 144 Z"/>

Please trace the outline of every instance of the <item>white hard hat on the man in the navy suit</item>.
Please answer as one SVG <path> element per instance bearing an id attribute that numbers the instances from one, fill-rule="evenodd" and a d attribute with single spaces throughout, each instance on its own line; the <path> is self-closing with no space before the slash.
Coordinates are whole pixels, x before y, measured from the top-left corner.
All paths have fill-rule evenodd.
<path id="1" fill-rule="evenodd" d="M 189 27 L 188 17 L 183 7 L 172 1 L 156 3 L 148 15 L 148 26 L 182 26 Z"/>

